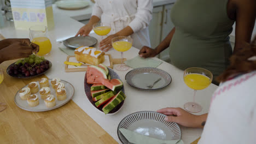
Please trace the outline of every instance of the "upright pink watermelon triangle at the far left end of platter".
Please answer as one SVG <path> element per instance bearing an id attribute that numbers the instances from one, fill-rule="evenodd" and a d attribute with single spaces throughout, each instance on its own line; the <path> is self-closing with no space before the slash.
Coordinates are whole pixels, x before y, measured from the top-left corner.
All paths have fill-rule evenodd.
<path id="1" fill-rule="evenodd" d="M 89 84 L 101 83 L 102 79 L 107 79 L 107 72 L 95 65 L 90 65 L 86 71 L 86 79 Z"/>

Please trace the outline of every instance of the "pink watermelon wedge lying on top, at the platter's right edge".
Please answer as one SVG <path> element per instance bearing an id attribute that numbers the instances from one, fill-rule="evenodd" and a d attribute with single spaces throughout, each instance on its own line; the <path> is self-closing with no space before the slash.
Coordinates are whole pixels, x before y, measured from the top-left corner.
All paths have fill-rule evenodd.
<path id="1" fill-rule="evenodd" d="M 101 83 L 112 91 L 119 91 L 123 87 L 123 82 L 119 79 L 102 79 Z"/>

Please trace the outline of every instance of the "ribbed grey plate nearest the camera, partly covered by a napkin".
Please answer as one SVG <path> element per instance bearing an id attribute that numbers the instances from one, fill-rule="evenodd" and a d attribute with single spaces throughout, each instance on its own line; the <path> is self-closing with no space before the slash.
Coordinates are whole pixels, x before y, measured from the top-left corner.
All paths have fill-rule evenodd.
<path id="1" fill-rule="evenodd" d="M 128 129 L 142 135 L 161 140 L 181 139 L 181 129 L 177 123 L 165 121 L 165 115 L 154 111 L 140 111 L 126 116 L 118 125 L 118 137 L 124 144 L 129 141 L 119 130 Z"/>

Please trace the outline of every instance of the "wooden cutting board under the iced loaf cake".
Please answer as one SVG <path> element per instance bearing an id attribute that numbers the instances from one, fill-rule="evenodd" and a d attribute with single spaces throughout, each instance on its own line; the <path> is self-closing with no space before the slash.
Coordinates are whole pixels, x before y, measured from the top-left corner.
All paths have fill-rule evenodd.
<path id="1" fill-rule="evenodd" d="M 124 58 L 124 62 L 126 61 L 126 58 Z M 77 59 L 75 59 L 75 56 L 68 56 L 67 57 L 67 62 L 75 62 L 75 63 L 81 63 L 78 62 Z M 112 58 L 111 55 L 106 54 L 105 55 L 105 61 L 103 62 L 104 65 L 106 65 L 107 67 L 113 69 L 113 65 L 114 64 L 121 64 L 122 63 L 122 59 L 121 58 Z M 81 66 L 74 66 L 74 65 L 65 65 L 65 71 L 66 72 L 77 72 L 77 71 L 86 71 L 87 70 L 87 64 L 83 63 L 85 65 L 81 65 Z M 88 64 L 90 65 L 90 64 Z"/>

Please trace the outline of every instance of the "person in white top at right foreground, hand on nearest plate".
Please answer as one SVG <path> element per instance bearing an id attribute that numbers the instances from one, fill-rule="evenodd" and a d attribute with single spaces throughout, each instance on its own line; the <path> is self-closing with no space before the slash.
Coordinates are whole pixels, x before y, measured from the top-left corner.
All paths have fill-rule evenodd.
<path id="1" fill-rule="evenodd" d="M 203 128 L 199 144 L 256 143 L 256 37 L 244 47 L 217 77 L 222 83 L 212 95 L 208 114 L 193 115 L 171 107 L 158 112 L 166 115 L 166 121 Z"/>

